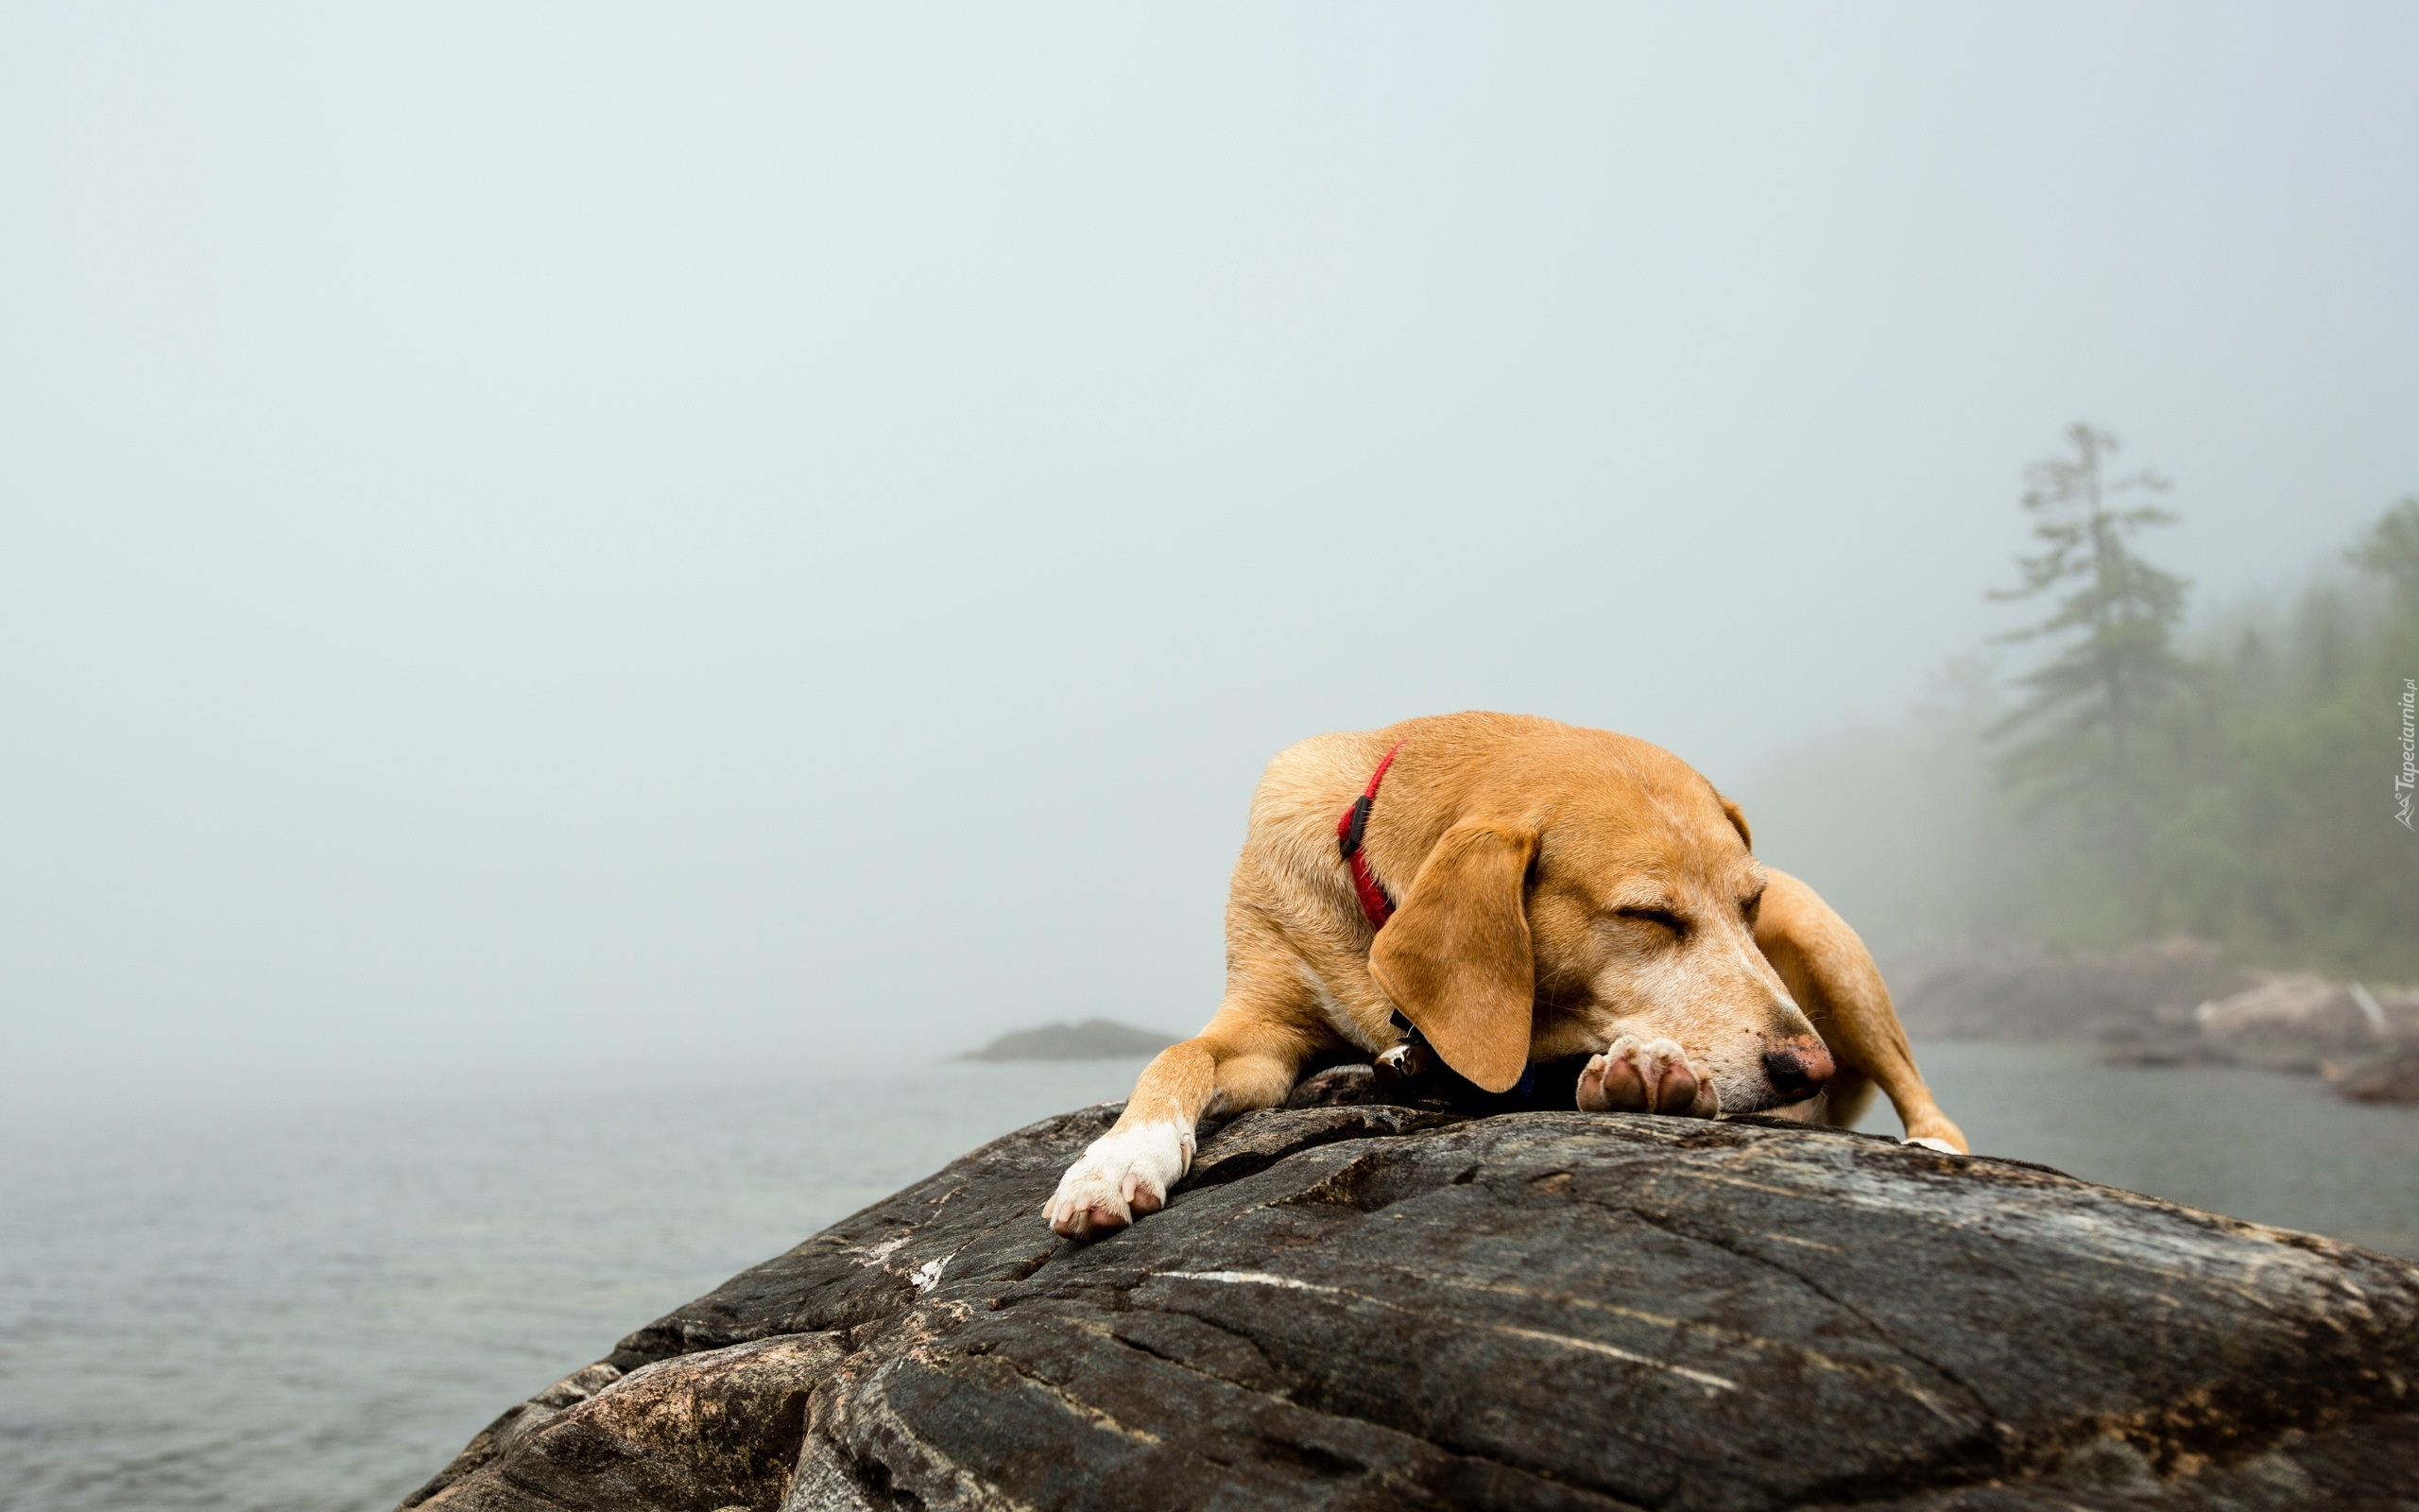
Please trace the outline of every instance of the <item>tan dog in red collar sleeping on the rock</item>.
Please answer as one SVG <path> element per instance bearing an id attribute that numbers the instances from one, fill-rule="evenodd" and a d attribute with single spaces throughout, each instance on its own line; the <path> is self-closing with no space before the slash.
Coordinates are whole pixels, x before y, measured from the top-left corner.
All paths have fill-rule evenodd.
<path id="1" fill-rule="evenodd" d="M 1609 731 L 1447 714 L 1294 745 L 1251 798 L 1226 999 L 1142 1072 L 1050 1227 L 1093 1239 L 1159 1212 L 1205 1113 L 1282 1103 L 1311 1057 L 1401 1055 L 1398 1009 L 1485 1091 L 1589 1055 L 1584 1110 L 1826 1093 L 1851 1123 L 1880 1084 L 1909 1142 L 1962 1152 L 1865 943 L 1749 844 L 1710 781 Z"/>

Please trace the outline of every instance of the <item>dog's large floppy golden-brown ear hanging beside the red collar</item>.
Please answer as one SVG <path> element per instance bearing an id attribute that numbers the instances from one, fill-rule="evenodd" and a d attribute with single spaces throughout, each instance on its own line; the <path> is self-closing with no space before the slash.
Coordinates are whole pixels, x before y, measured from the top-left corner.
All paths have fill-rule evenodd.
<path id="1" fill-rule="evenodd" d="M 1534 854 L 1536 835 L 1454 825 L 1369 946 L 1386 997 L 1444 1064 L 1488 1091 L 1509 1091 L 1529 1067 L 1536 963 L 1522 881 Z"/>

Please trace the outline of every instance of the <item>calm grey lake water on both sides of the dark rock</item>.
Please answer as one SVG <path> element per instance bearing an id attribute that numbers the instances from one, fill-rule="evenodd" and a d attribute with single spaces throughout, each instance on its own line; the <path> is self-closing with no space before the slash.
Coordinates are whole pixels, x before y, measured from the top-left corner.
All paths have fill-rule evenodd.
<path id="1" fill-rule="evenodd" d="M 2419 1258 L 2419 1108 L 1926 1045 L 1974 1147 Z M 622 1333 L 1137 1062 L 15 1132 L 0 1510 L 385 1510 Z M 1867 1127 L 1894 1132 L 1887 1108 Z"/>

